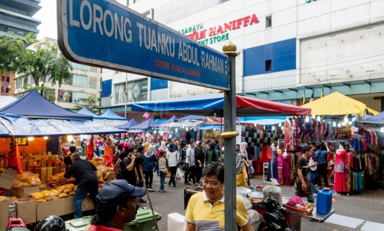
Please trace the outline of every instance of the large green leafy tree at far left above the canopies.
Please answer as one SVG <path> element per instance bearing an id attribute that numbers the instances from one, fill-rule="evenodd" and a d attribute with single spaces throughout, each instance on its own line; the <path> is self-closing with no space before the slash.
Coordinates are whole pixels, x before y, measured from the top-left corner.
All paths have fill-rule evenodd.
<path id="1" fill-rule="evenodd" d="M 0 68 L 16 71 L 21 77 L 32 76 L 35 85 L 39 80 L 49 76 L 52 86 L 57 82 L 59 86 L 72 78 L 72 65 L 61 54 L 58 55 L 56 44 L 48 41 L 38 41 L 36 34 L 28 33 L 25 37 L 27 43 L 34 49 L 25 49 L 23 41 L 15 36 L 0 36 L 0 54 L 6 56 L 4 62 L 0 59 Z M 11 54 L 10 56 L 3 55 Z M 3 63 L 3 64 L 2 64 Z"/>

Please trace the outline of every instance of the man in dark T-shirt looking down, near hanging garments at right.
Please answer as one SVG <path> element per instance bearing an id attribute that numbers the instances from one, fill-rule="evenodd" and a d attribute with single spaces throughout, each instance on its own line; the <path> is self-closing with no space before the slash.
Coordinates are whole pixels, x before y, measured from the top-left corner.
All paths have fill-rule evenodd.
<path id="1" fill-rule="evenodd" d="M 295 195 L 307 197 L 309 203 L 314 203 L 313 191 L 311 183 L 308 179 L 308 162 L 307 159 L 312 155 L 311 147 L 303 148 L 303 155 L 297 159 L 296 163 L 296 180 L 295 180 Z"/>

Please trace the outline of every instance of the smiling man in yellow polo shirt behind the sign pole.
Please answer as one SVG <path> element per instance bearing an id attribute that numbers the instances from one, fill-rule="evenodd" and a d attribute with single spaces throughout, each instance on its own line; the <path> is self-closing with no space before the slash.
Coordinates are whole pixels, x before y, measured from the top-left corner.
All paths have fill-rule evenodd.
<path id="1" fill-rule="evenodd" d="M 185 212 L 185 231 L 224 230 L 224 167 L 217 162 L 203 169 L 204 191 L 193 195 Z M 250 230 L 243 199 L 237 195 L 237 224 L 242 231 Z"/>

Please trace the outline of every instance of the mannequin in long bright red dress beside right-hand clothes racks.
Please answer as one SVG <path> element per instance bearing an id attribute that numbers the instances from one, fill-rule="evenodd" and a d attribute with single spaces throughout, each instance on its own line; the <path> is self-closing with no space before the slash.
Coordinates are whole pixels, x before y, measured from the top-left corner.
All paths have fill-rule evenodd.
<path id="1" fill-rule="evenodd" d="M 336 150 L 335 154 L 335 187 L 334 191 L 337 192 L 347 192 L 346 186 L 346 174 L 348 169 L 348 159 L 347 151 L 343 148 L 342 145 L 339 146 L 339 149 Z"/>

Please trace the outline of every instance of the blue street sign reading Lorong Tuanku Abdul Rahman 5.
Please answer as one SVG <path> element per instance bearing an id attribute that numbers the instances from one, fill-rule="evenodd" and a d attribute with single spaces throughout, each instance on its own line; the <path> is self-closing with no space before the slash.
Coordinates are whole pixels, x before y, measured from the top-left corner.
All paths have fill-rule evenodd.
<path id="1" fill-rule="evenodd" d="M 228 56 L 113 0 L 57 0 L 57 17 L 72 61 L 229 90 Z"/>

